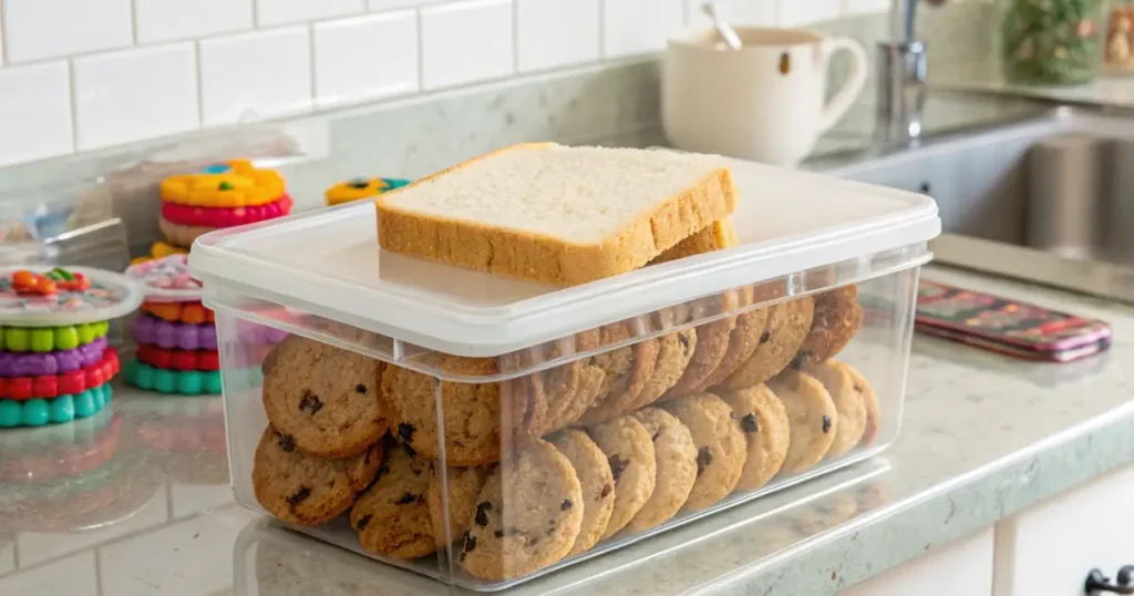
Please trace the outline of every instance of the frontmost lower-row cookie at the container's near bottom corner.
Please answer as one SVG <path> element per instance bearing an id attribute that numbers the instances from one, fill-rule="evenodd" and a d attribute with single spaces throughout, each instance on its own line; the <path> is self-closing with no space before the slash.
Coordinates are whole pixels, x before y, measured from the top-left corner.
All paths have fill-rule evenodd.
<path id="1" fill-rule="evenodd" d="M 462 540 L 460 569 L 499 581 L 555 564 L 578 537 L 582 502 L 583 489 L 567 458 L 550 443 L 533 440 L 484 482 L 477 517 Z"/>

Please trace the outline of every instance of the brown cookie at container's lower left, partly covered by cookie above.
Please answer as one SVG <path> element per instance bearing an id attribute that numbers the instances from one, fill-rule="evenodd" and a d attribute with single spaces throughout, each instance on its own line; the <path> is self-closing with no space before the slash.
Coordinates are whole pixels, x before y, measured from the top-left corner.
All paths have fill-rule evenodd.
<path id="1" fill-rule="evenodd" d="M 256 501 L 276 518 L 297 526 L 320 526 L 350 509 L 382 462 L 382 445 L 345 460 L 303 452 L 291 435 L 268 427 L 252 467 Z"/>

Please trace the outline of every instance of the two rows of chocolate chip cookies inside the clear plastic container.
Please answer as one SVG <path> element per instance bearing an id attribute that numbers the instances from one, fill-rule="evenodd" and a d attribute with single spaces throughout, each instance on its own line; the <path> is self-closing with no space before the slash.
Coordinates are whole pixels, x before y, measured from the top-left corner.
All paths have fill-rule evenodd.
<path id="1" fill-rule="evenodd" d="M 655 262 L 725 247 L 729 227 L 714 224 Z M 736 310 L 776 292 L 747 287 L 657 316 L 680 327 L 693 312 Z M 416 559 L 452 544 L 473 577 L 534 572 L 870 445 L 877 396 L 856 369 L 832 360 L 862 322 L 856 296 L 846 286 L 479 385 L 438 385 L 289 337 L 264 363 L 271 427 L 255 456 L 257 500 L 298 526 L 349 512 L 361 546 L 379 555 Z M 623 343 L 634 327 L 579 334 L 576 351 Z M 476 377 L 557 356 L 437 354 L 422 364 Z M 528 495 L 525 486 L 542 488 Z M 538 545 L 513 544 L 534 535 Z"/>

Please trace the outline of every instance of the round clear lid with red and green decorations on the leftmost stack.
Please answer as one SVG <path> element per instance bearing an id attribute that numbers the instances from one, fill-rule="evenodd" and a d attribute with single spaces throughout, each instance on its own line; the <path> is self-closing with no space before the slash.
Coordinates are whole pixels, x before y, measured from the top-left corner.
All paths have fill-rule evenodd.
<path id="1" fill-rule="evenodd" d="M 58 274 L 61 271 L 61 274 Z M 15 274 L 52 280 L 51 292 L 28 292 Z M 91 267 L 0 267 L 0 325 L 53 327 L 117 319 L 142 304 L 142 286 L 122 274 Z"/>

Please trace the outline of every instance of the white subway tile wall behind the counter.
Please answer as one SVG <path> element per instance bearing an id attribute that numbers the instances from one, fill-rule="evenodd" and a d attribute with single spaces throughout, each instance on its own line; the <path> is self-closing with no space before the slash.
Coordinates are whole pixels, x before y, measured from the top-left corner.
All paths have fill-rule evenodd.
<path id="1" fill-rule="evenodd" d="M 0 166 L 649 53 L 697 2 L 0 0 Z M 802 25 L 889 0 L 720 3 Z"/>

